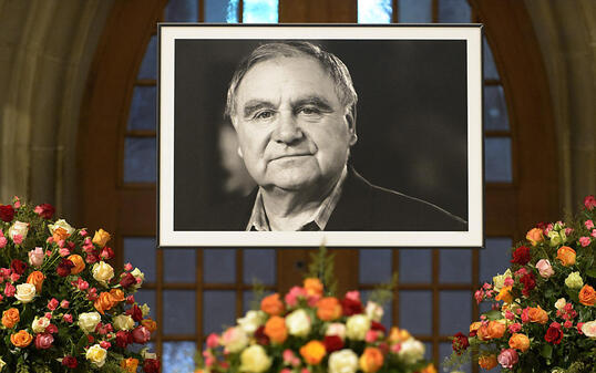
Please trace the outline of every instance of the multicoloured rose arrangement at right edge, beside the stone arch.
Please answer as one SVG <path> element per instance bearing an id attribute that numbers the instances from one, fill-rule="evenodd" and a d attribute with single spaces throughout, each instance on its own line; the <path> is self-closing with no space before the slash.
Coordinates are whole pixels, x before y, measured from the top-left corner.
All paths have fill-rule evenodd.
<path id="1" fill-rule="evenodd" d="M 448 365 L 470 356 L 505 372 L 595 372 L 596 198 L 578 218 L 540 224 L 516 245 L 512 266 L 475 292 L 492 310 L 453 338 Z"/>

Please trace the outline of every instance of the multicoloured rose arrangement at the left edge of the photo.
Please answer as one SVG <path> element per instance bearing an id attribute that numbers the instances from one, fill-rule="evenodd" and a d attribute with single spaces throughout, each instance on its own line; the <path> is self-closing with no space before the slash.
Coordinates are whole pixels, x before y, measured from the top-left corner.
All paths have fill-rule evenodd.
<path id="1" fill-rule="evenodd" d="M 144 274 L 107 262 L 110 234 L 91 237 L 54 208 L 0 205 L 0 372 L 160 372 L 146 344 L 156 323 L 134 292 Z"/>

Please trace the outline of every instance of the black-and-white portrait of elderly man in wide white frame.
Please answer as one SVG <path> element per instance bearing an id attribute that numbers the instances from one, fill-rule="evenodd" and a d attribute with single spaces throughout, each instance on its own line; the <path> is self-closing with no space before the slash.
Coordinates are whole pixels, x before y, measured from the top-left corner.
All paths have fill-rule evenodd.
<path id="1" fill-rule="evenodd" d="M 482 25 L 158 27 L 157 242 L 484 246 Z"/>

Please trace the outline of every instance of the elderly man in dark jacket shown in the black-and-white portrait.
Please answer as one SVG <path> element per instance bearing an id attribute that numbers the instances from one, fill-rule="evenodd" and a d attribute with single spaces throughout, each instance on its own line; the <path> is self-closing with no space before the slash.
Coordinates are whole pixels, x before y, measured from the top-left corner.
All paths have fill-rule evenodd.
<path id="1" fill-rule="evenodd" d="M 225 230 L 466 230 L 445 210 L 349 166 L 358 96 L 346 65 L 308 42 L 264 44 L 240 63 L 226 114 L 258 187 L 218 209 Z"/>

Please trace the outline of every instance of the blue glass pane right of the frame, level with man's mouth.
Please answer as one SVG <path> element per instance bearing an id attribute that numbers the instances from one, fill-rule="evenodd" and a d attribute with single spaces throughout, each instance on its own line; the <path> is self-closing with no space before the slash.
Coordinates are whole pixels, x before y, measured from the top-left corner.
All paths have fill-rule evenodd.
<path id="1" fill-rule="evenodd" d="M 484 139 L 484 166 L 486 182 L 511 183 L 511 138 L 487 137 Z"/>

